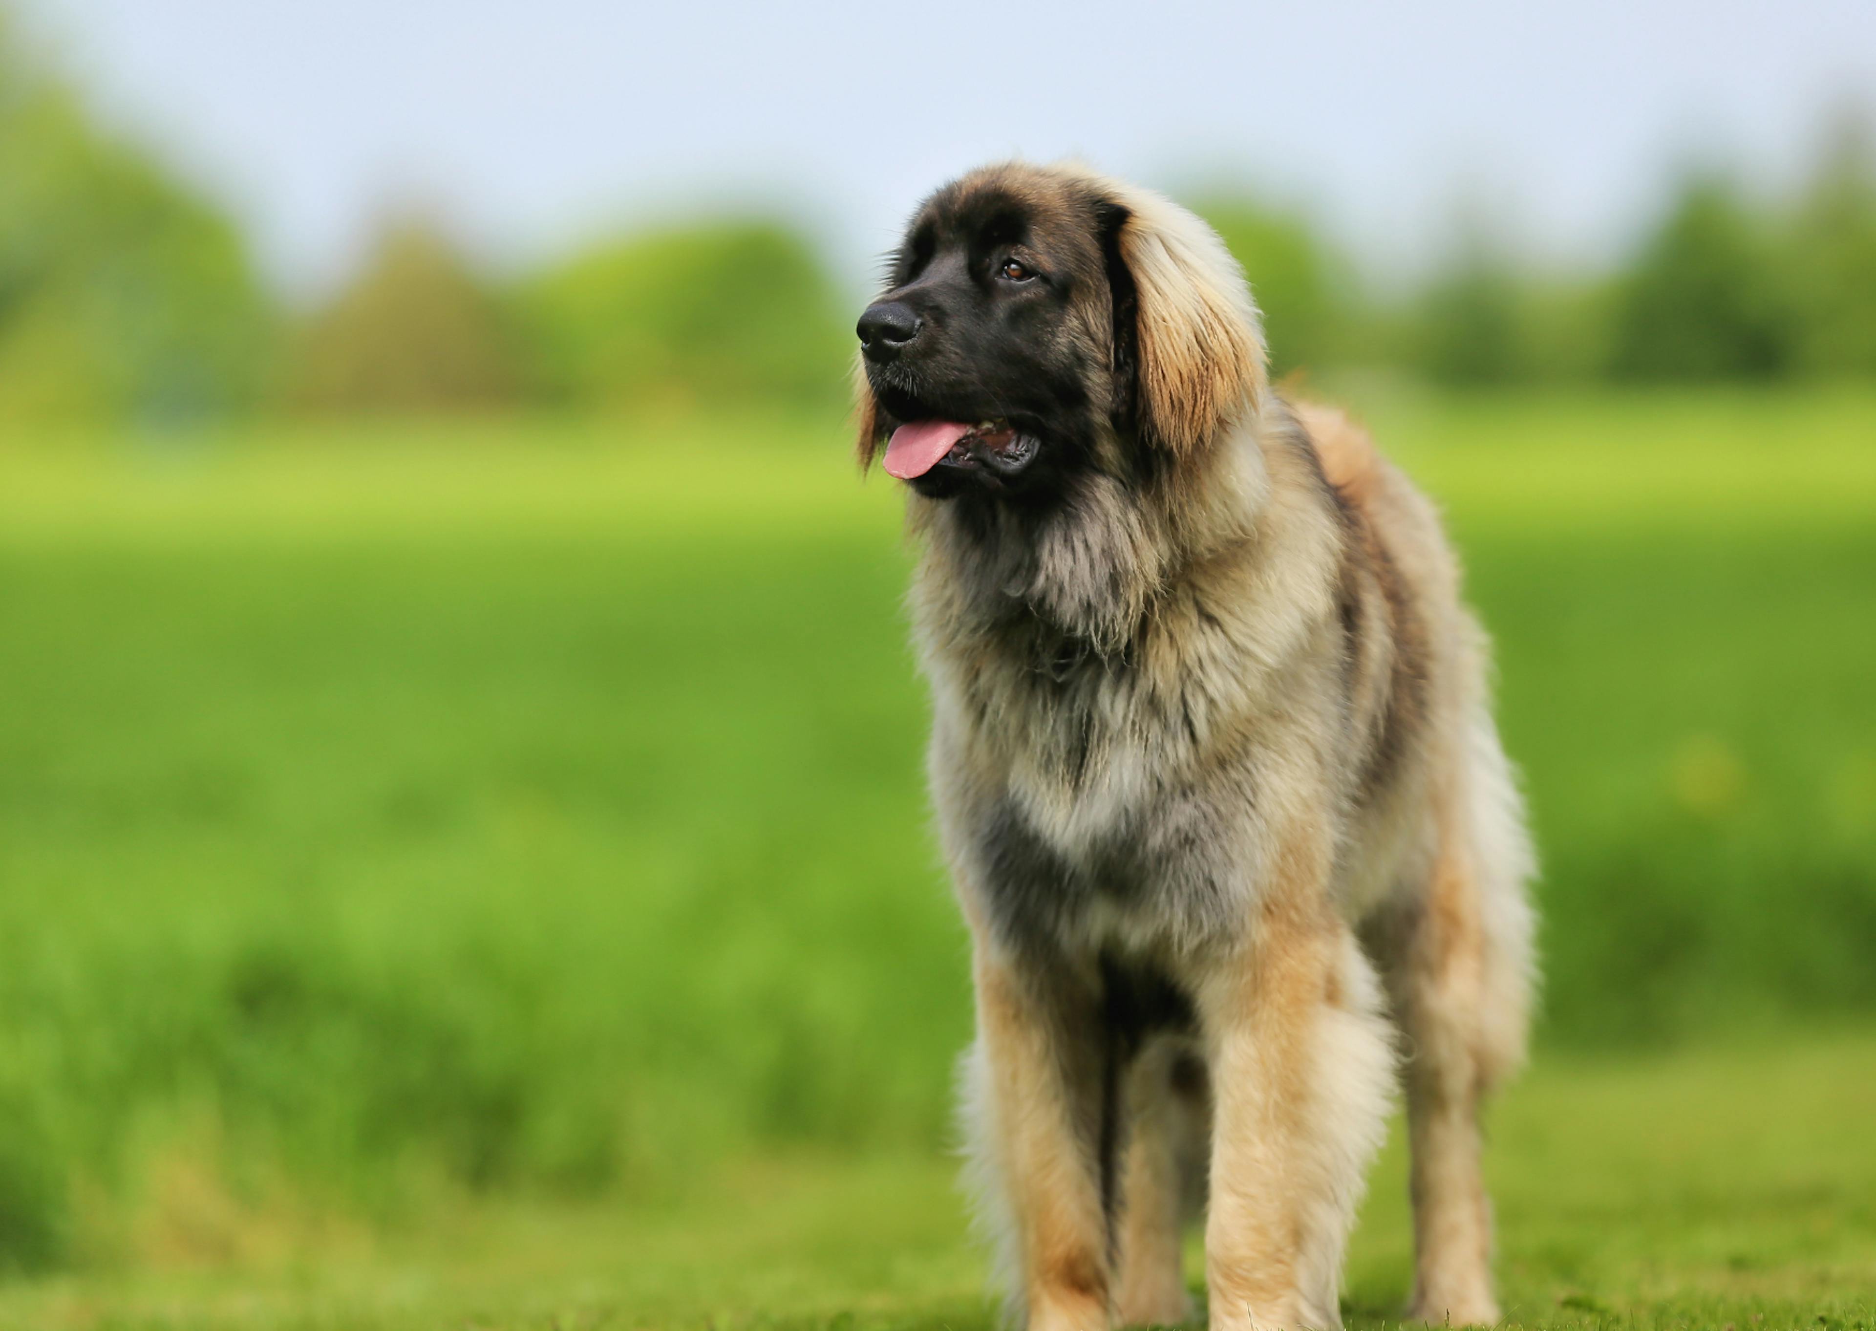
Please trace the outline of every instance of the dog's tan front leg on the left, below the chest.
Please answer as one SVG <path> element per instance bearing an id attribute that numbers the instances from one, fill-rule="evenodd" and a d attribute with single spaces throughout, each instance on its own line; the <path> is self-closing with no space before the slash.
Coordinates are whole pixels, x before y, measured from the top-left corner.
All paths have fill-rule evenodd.
<path id="1" fill-rule="evenodd" d="M 1103 1068 L 1086 980 L 979 935 L 976 1149 L 1028 1331 L 1105 1331 Z"/>

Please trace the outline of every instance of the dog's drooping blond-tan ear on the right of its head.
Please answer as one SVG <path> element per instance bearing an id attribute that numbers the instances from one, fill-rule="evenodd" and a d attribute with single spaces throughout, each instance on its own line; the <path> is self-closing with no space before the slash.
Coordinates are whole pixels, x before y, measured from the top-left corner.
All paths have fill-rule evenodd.
<path id="1" fill-rule="evenodd" d="M 1105 184 L 1097 210 L 1111 246 L 1114 368 L 1131 370 L 1129 405 L 1141 436 L 1188 454 L 1263 402 L 1268 377 L 1257 306 L 1212 227 L 1156 193 Z M 1131 329 L 1124 327 L 1129 314 Z"/>

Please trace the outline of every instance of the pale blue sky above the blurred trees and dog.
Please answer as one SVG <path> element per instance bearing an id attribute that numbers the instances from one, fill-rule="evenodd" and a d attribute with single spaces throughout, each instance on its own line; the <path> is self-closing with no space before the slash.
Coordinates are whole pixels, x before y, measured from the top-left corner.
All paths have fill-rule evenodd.
<path id="1" fill-rule="evenodd" d="M 1876 0 L 15 4 L 298 287 L 390 205 L 525 261 L 737 199 L 782 201 L 857 283 L 940 178 L 1071 152 L 1154 184 L 1246 173 L 1383 268 L 1461 195 L 1598 253 L 1666 165 L 1775 180 L 1829 105 L 1876 98 Z"/>

